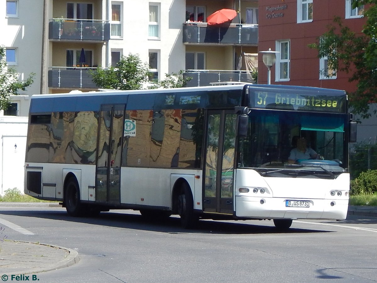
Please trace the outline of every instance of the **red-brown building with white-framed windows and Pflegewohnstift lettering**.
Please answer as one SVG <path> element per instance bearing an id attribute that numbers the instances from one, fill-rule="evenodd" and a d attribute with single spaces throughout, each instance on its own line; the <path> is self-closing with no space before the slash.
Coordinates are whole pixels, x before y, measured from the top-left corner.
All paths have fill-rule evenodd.
<path id="1" fill-rule="evenodd" d="M 320 88 L 355 91 L 356 83 L 348 82 L 350 74 L 331 70 L 327 58 L 318 58 L 316 49 L 308 44 L 318 42 L 335 16 L 344 25 L 360 34 L 365 18 L 364 7 L 352 9 L 353 0 L 264 0 L 259 1 L 259 51 L 278 51 L 271 68 L 271 84 L 316 86 Z M 367 7 L 366 7 L 367 8 Z M 352 72 L 352 70 L 351 70 Z M 332 74 L 328 77 L 328 74 Z M 267 82 L 267 68 L 259 55 L 258 83 Z M 375 109 L 375 105 L 371 106 Z M 375 114 L 362 120 L 357 140 L 375 143 L 377 139 Z"/>

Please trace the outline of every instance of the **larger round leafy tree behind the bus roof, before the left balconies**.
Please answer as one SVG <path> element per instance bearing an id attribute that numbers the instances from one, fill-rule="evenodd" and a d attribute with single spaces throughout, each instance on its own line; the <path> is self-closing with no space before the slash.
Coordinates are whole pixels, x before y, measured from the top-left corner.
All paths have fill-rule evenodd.
<path id="1" fill-rule="evenodd" d="M 108 69 L 98 68 L 91 72 L 93 82 L 100 88 L 107 89 L 140 89 L 148 81 L 149 69 L 139 55 L 122 56 L 116 66 Z"/>

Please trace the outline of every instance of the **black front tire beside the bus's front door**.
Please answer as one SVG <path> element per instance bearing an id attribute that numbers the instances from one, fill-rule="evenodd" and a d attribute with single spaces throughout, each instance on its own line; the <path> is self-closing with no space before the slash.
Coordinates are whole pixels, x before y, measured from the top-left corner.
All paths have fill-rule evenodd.
<path id="1" fill-rule="evenodd" d="M 182 184 L 181 193 L 178 195 L 178 214 L 184 229 L 194 228 L 198 223 L 199 217 L 194 212 L 194 200 L 187 183 Z"/>

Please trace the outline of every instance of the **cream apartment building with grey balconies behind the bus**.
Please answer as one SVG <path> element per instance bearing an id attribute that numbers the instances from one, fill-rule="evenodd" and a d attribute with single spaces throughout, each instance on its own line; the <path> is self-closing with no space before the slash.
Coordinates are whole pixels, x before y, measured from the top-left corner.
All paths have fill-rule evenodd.
<path id="1" fill-rule="evenodd" d="M 207 26 L 208 15 L 222 8 L 240 13 L 227 27 Z M 235 0 L 5 0 L 7 63 L 20 79 L 36 75 L 4 114 L 27 116 L 32 94 L 95 90 L 90 71 L 129 53 L 149 63 L 152 82 L 186 69 L 195 70 L 191 85 L 245 80 L 239 60 L 253 54 L 256 61 L 257 9 L 257 1 Z"/>

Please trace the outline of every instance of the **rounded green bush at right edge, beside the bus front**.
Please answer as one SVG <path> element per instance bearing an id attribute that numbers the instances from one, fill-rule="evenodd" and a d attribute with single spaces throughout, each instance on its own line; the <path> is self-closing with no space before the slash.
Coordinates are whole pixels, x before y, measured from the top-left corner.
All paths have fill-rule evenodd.
<path id="1" fill-rule="evenodd" d="M 377 192 L 377 170 L 361 172 L 359 177 L 351 180 L 352 195 L 374 194 Z"/>

